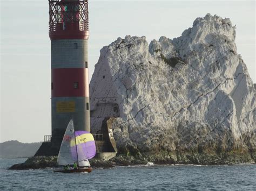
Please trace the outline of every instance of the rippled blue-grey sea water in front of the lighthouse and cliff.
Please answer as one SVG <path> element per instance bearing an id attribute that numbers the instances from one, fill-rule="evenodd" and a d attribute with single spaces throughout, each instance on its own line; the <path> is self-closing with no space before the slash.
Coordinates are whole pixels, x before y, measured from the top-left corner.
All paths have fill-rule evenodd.
<path id="1" fill-rule="evenodd" d="M 26 159 L 0 159 L 0 190 L 256 190 L 256 165 L 153 165 L 53 173 L 7 170 Z"/>

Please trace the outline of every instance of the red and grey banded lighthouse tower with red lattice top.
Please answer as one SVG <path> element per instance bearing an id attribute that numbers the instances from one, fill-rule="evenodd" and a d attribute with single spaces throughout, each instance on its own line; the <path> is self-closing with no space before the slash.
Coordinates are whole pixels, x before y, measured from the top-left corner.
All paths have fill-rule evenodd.
<path id="1" fill-rule="evenodd" d="M 49 16 L 51 142 L 60 144 L 70 119 L 90 132 L 88 1 L 49 0 Z"/>

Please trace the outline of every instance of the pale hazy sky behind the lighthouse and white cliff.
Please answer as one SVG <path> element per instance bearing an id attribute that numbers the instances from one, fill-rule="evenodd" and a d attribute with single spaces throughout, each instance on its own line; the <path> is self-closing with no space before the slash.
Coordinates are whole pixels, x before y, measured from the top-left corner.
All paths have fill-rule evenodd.
<path id="1" fill-rule="evenodd" d="M 41 142 L 51 135 L 51 63 L 47 0 L 1 4 L 0 143 Z M 237 26 L 238 54 L 256 83 L 255 1 L 96 1 L 89 0 L 89 78 L 99 50 L 118 37 L 173 39 L 207 13 Z"/>

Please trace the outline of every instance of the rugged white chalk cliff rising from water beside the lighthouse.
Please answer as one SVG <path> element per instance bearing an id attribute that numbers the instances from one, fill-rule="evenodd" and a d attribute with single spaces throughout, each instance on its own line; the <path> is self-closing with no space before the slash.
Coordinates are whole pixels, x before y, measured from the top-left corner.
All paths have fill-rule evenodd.
<path id="1" fill-rule="evenodd" d="M 197 164 L 256 159 L 253 82 L 230 19 L 207 14 L 181 37 L 118 38 L 90 82 L 91 130 L 112 124 L 120 153 Z"/>

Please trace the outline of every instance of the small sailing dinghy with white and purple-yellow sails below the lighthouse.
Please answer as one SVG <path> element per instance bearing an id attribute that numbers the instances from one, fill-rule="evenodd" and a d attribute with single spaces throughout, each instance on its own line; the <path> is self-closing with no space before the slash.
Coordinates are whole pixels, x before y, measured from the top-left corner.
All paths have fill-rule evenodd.
<path id="1" fill-rule="evenodd" d="M 73 119 L 71 119 L 58 154 L 57 163 L 62 169 L 56 169 L 54 172 L 91 172 L 92 168 L 88 159 L 95 155 L 96 146 L 92 134 L 87 131 L 75 131 Z M 77 164 L 76 169 L 68 167 L 73 166 L 74 162 Z"/>

